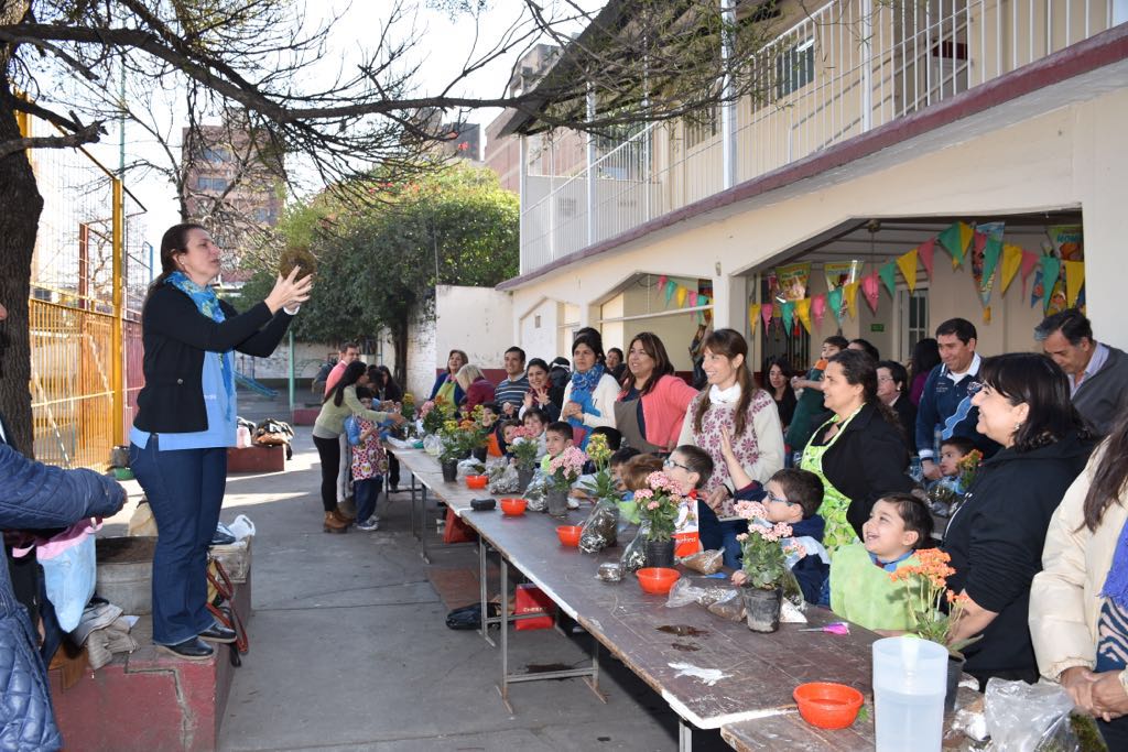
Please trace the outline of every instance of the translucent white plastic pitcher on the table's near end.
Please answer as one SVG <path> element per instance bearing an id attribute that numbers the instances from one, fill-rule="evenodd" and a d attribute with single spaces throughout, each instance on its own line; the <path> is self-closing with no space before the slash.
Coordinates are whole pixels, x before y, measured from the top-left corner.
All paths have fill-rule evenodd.
<path id="1" fill-rule="evenodd" d="M 878 752 L 940 752 L 948 649 L 916 637 L 873 644 Z"/>

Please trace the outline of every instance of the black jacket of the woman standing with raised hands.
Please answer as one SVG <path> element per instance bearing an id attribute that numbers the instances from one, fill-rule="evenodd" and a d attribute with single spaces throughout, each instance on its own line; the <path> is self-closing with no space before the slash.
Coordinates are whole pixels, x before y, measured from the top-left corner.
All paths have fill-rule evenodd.
<path id="1" fill-rule="evenodd" d="M 149 433 L 206 431 L 204 353 L 237 350 L 267 357 L 277 347 L 292 316 L 266 303 L 239 313 L 220 300 L 226 321 L 213 321 L 188 295 L 171 285 L 153 290 L 141 312 L 144 386 L 138 393 L 133 425 Z"/>

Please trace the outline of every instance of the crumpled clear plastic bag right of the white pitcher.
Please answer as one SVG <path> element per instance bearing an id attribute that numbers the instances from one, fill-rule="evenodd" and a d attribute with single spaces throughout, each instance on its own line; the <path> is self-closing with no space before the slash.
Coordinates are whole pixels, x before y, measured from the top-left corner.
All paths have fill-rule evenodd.
<path id="1" fill-rule="evenodd" d="M 1073 700 L 1060 684 L 1046 680 L 1028 684 L 997 678 L 987 681 L 984 713 L 992 749 L 1006 752 L 1079 750 L 1076 736 L 1060 745 L 1050 742 L 1050 737 L 1057 741 L 1058 734 L 1073 734 L 1068 723 L 1072 710 Z M 1065 723 L 1060 723 L 1063 718 Z"/>

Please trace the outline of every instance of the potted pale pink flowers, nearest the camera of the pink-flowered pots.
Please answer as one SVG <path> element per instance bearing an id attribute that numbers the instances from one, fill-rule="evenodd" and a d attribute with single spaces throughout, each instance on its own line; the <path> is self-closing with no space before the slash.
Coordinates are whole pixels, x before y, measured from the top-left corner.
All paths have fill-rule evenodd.
<path id="1" fill-rule="evenodd" d="M 783 545 L 783 540 L 791 537 L 791 525 L 768 522 L 767 510 L 759 502 L 737 502 L 735 511 L 748 520 L 748 532 L 737 536 L 743 552 L 746 578 L 742 595 L 748 628 L 773 632 L 779 629 L 783 583 L 788 572 L 787 555 L 803 552 L 803 549 Z"/>

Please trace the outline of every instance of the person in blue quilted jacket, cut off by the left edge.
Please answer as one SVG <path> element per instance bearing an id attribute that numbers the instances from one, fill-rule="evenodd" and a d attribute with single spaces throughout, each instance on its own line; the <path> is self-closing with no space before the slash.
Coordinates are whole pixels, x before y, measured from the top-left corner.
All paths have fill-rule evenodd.
<path id="1" fill-rule="evenodd" d="M 7 315 L 0 304 L 0 321 Z M 0 529 L 65 528 L 122 508 L 125 492 L 116 481 L 91 470 L 62 470 L 29 460 L 8 444 L 10 435 L 2 431 Z M 6 563 L 0 569 L 0 749 L 30 752 L 62 746 L 38 643 Z"/>

